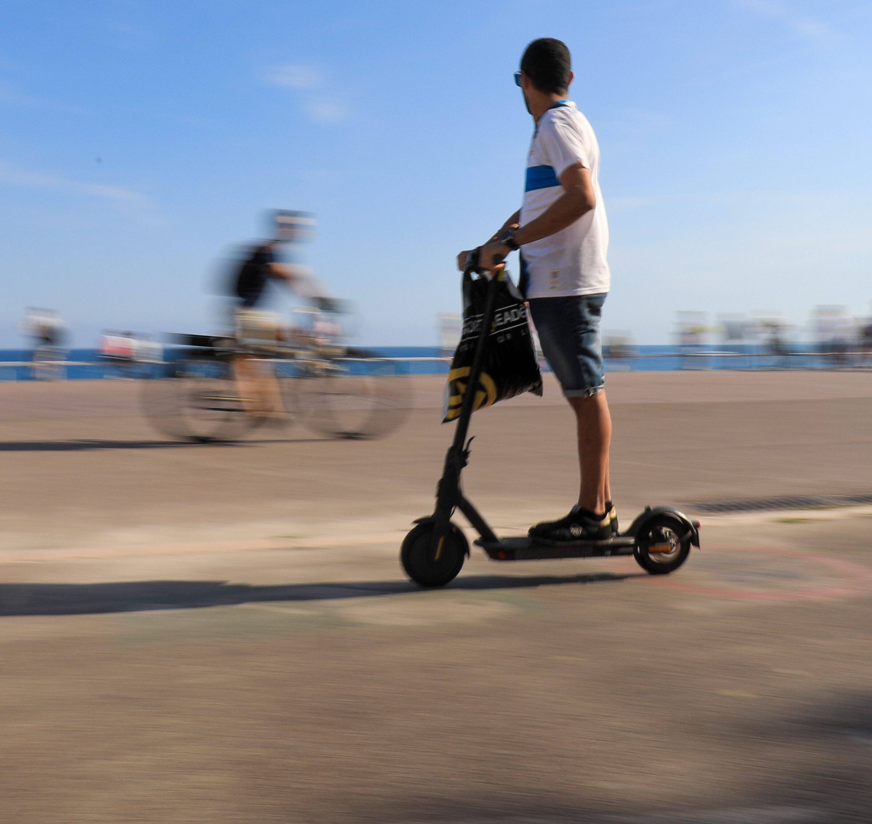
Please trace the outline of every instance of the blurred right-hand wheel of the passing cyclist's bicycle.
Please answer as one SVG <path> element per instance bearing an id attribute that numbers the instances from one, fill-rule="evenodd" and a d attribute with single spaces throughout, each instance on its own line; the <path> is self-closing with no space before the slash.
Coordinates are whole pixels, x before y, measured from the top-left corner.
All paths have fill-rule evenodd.
<path id="1" fill-rule="evenodd" d="M 366 354 L 302 364 L 292 386 L 296 414 L 330 438 L 379 438 L 392 432 L 405 419 L 411 395 L 401 364 Z"/>

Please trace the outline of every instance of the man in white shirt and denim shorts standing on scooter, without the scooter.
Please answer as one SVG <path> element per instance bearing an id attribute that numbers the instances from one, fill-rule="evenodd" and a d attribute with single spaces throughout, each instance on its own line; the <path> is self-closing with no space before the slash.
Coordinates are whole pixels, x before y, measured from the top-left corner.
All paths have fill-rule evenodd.
<path id="1" fill-rule="evenodd" d="M 618 534 L 611 503 L 611 418 L 599 323 L 610 287 L 609 224 L 599 186 L 599 145 L 568 99 L 569 49 L 543 37 L 529 44 L 514 80 L 535 122 L 521 208 L 480 247 L 479 266 L 494 269 L 520 249 L 521 291 L 542 352 L 576 413 L 581 488 L 558 521 L 530 528 L 535 541 L 561 545 Z M 458 255 L 461 270 L 468 251 Z"/>

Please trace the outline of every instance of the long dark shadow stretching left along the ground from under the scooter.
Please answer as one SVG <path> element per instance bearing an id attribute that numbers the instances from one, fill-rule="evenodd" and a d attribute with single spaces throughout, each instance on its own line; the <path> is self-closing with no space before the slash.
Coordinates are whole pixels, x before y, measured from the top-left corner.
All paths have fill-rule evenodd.
<path id="1" fill-rule="evenodd" d="M 453 591 L 533 589 L 566 584 L 625 581 L 644 572 L 579 575 L 467 575 L 445 588 Z M 255 586 L 223 581 L 120 581 L 105 583 L 3 583 L 0 617 L 98 615 L 160 609 L 201 609 L 242 603 L 305 603 L 348 598 L 420 595 L 405 581 L 349 581 Z"/>

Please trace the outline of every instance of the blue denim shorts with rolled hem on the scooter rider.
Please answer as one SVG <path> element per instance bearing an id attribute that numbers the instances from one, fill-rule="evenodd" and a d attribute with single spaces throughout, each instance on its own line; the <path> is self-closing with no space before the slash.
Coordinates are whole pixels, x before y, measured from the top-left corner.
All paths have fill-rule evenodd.
<path id="1" fill-rule="evenodd" d="M 567 398 L 588 398 L 605 384 L 599 322 L 607 294 L 534 297 L 529 302 L 542 354 Z"/>

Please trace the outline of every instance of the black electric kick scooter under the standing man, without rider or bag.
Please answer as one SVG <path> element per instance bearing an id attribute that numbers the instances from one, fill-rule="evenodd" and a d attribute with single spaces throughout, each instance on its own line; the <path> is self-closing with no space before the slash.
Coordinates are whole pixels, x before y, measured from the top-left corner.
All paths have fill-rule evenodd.
<path id="1" fill-rule="evenodd" d="M 478 250 L 467 258 L 464 276 L 487 276 L 479 269 Z M 436 490 L 436 507 L 432 515 L 415 521 L 400 549 L 400 562 L 406 574 L 423 587 L 441 587 L 460 573 L 469 556 L 466 535 L 452 522 L 456 509 L 478 532 L 475 543 L 493 561 L 545 561 L 557 558 L 601 558 L 632 555 L 639 566 L 651 575 L 668 575 L 678 569 L 690 555 L 691 546 L 699 547 L 699 521 L 671 507 L 645 507 L 644 511 L 620 535 L 599 541 L 579 540 L 553 546 L 523 536 L 500 538 L 460 488 L 460 473 L 469 461 L 467 441 L 469 421 L 473 415 L 487 336 L 494 318 L 497 283 L 505 276 L 499 267 L 490 276 L 484 316 L 473 354 L 473 364 L 463 392 L 463 403 L 454 430 L 454 438 L 445 458 L 445 468 Z"/>

